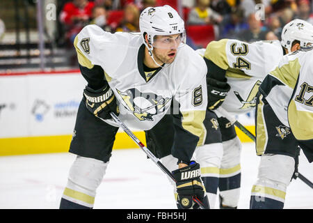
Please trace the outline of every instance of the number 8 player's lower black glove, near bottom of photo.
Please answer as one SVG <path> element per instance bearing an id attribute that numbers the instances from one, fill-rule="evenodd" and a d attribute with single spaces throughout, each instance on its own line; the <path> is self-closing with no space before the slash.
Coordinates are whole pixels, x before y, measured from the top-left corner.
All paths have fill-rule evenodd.
<path id="1" fill-rule="evenodd" d="M 204 202 L 204 187 L 200 179 L 200 165 L 192 161 L 188 167 L 182 167 L 172 171 L 176 180 L 177 202 L 185 209 L 198 209 L 198 203 L 193 201 L 193 197 L 197 197 L 201 203 Z"/>

